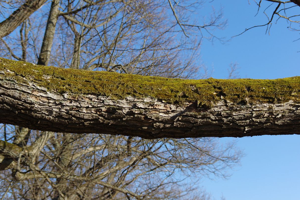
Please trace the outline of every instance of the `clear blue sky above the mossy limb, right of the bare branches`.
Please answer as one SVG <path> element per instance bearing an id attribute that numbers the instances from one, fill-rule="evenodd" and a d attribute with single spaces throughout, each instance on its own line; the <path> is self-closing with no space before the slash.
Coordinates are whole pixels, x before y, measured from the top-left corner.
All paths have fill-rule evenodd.
<path id="1" fill-rule="evenodd" d="M 245 28 L 266 23 L 262 12 L 255 16 L 257 5 L 250 0 L 214 0 L 205 4 L 206 7 L 214 6 L 216 9 L 223 7 L 223 15 L 228 19 L 225 30 L 216 34 L 230 39 L 240 34 Z M 263 1 L 262 6 L 269 4 Z M 300 12 L 300 7 L 297 7 Z M 262 10 L 261 10 L 262 11 Z M 271 10 L 270 10 L 271 11 Z M 241 78 L 276 79 L 300 75 L 300 37 L 299 31 L 290 31 L 289 24 L 281 19 L 277 24 L 272 24 L 270 35 L 265 34 L 266 27 L 253 28 L 244 34 L 231 38 L 231 41 L 221 44 L 203 41 L 201 59 L 207 66 L 213 66 L 214 78 L 226 78 L 227 68 L 231 62 L 239 63 Z M 298 25 L 299 28 L 299 25 Z"/>

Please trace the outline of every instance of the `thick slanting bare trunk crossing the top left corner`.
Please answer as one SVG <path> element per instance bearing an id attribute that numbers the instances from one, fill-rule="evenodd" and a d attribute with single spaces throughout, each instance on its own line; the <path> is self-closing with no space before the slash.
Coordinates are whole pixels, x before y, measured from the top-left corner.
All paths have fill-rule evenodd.
<path id="1" fill-rule="evenodd" d="M 0 38 L 10 34 L 32 13 L 38 10 L 47 0 L 28 0 L 0 23 Z"/>

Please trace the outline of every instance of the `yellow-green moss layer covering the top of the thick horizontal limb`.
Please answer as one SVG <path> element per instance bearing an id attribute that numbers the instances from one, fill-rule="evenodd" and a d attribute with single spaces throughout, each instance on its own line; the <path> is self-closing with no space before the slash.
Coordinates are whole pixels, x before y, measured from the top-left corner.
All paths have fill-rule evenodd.
<path id="1" fill-rule="evenodd" d="M 16 82 L 32 81 L 60 94 L 96 94 L 115 99 L 155 97 L 170 103 L 197 101 L 200 106 L 211 106 L 220 99 L 241 104 L 300 102 L 300 76 L 273 80 L 185 80 L 45 67 L 4 58 L 0 58 L 0 71 Z"/>

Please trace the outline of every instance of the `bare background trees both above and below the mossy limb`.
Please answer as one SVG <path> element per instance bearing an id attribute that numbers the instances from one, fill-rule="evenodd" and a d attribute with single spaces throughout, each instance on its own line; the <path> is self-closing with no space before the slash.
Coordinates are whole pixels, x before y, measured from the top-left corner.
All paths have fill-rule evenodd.
<path id="1" fill-rule="evenodd" d="M 22 5 L 1 3 L 4 19 Z M 211 31 L 225 25 L 218 13 L 201 25 L 190 22 L 199 6 L 189 1 L 48 1 L 10 35 L 1 35 L 0 57 L 191 78 L 201 70 L 195 59 L 201 40 L 215 39 Z M 1 133 L 3 199 L 188 199 L 195 189 L 188 177 L 227 177 L 226 169 L 241 157 L 233 144 L 222 147 L 214 138 L 146 140 L 5 124 Z"/>

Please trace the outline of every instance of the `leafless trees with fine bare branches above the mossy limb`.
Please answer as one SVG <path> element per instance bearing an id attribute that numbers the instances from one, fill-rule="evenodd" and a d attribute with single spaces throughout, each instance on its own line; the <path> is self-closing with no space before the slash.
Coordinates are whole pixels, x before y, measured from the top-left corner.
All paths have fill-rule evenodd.
<path id="1" fill-rule="evenodd" d="M 196 62 L 199 45 L 203 38 L 216 38 L 211 33 L 213 29 L 223 28 L 225 22 L 221 21 L 221 13 L 214 13 L 201 27 L 182 24 L 185 25 L 183 32 L 177 25 L 179 14 L 182 22 L 188 22 L 190 10 L 195 10 L 200 3 L 190 5 L 182 1 L 174 5 L 176 18 L 166 17 L 171 13 L 168 4 L 157 1 L 52 1 L 48 16 L 41 9 L 40 13 L 29 17 L 27 26 L 25 24 L 16 33 L 17 38 L 2 39 L 1 56 L 24 60 L 19 43 L 26 41 L 27 52 L 23 53 L 30 55 L 26 60 L 34 63 L 38 60 L 42 65 L 201 77 L 198 74 L 201 64 Z M 43 37 L 41 33 L 45 27 L 41 22 L 46 17 Z"/>

